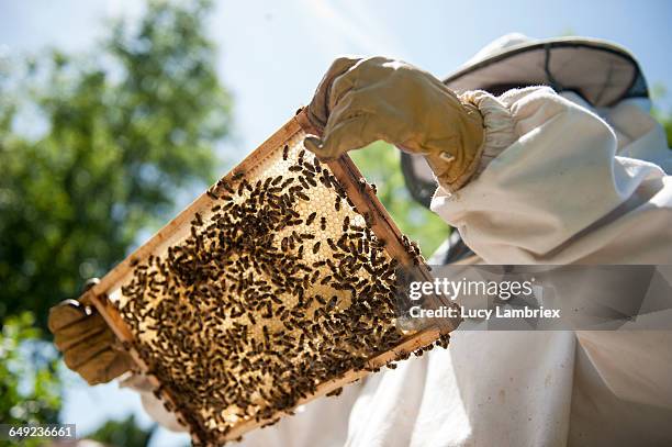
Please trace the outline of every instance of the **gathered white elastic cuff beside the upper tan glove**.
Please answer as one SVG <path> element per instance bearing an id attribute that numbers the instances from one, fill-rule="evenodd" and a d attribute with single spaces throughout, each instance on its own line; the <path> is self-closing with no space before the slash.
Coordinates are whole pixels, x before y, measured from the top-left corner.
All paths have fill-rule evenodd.
<path id="1" fill-rule="evenodd" d="M 483 116 L 483 152 L 479 166 L 469 181 L 475 180 L 488 165 L 517 139 L 511 111 L 495 97 L 483 90 L 467 91 L 460 100 L 473 104 Z"/>

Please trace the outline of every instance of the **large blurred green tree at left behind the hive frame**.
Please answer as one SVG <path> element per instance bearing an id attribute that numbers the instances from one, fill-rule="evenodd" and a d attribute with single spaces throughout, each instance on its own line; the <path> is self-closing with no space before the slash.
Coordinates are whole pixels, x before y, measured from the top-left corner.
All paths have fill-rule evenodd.
<path id="1" fill-rule="evenodd" d="M 231 101 L 209 10 L 152 1 L 91 53 L 54 49 L 0 76 L 0 322 L 27 309 L 45 327 L 51 305 L 169 216 L 175 191 L 214 179 Z M 26 120 L 44 131 L 21 133 Z"/>

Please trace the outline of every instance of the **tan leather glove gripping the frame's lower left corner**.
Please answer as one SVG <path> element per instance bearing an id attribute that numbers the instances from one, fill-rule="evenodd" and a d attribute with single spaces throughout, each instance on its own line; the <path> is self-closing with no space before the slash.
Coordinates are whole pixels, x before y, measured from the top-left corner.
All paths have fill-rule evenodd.
<path id="1" fill-rule="evenodd" d="M 116 336 L 93 306 L 77 300 L 61 301 L 49 310 L 48 326 L 66 366 L 89 384 L 107 383 L 133 366 L 131 356 L 120 349 Z"/>

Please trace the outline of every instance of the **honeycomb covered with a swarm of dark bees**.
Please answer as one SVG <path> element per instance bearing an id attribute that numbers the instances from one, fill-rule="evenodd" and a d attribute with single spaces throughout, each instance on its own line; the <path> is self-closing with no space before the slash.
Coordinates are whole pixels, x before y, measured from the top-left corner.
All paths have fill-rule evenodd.
<path id="1" fill-rule="evenodd" d="M 321 384 L 373 369 L 368 360 L 405 337 L 397 262 L 373 217 L 302 138 L 288 143 L 211 188 L 188 236 L 134 262 L 113 303 L 161 384 L 157 396 L 170 395 L 166 407 L 200 444 L 275 423 Z"/>

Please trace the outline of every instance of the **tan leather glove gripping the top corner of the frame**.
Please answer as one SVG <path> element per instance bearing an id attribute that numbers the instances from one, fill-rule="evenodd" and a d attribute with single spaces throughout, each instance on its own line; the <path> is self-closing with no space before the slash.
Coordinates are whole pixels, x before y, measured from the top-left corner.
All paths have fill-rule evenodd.
<path id="1" fill-rule="evenodd" d="M 480 161 L 483 119 L 478 109 L 400 60 L 336 59 L 307 113 L 323 136 L 309 136 L 305 147 L 324 160 L 383 139 L 424 155 L 449 191 L 462 187 Z"/>

